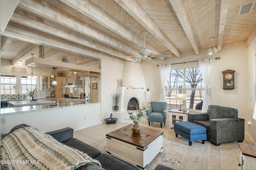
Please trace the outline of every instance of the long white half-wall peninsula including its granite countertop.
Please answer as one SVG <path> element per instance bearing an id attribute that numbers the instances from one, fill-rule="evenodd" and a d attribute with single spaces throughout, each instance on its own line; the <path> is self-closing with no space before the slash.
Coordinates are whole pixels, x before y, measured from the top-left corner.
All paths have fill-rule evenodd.
<path id="1" fill-rule="evenodd" d="M 108 115 L 106 115 L 108 117 Z M 71 127 L 75 131 L 101 123 L 101 102 L 64 102 L 59 105 L 23 106 L 1 109 L 1 133 L 27 124 L 44 132 Z"/>

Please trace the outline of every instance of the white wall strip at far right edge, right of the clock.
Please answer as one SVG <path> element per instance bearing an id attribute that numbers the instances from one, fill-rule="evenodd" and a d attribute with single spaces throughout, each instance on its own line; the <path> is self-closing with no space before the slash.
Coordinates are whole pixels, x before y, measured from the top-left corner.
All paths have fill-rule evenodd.
<path id="1" fill-rule="evenodd" d="M 252 41 L 252 43 L 247 48 L 247 58 L 248 58 L 248 109 L 246 112 L 246 124 L 249 121 L 251 125 L 246 125 L 247 132 L 250 135 L 250 137 L 254 140 L 256 143 L 256 120 L 252 119 L 253 110 L 254 110 L 254 104 L 256 100 L 256 38 Z"/>

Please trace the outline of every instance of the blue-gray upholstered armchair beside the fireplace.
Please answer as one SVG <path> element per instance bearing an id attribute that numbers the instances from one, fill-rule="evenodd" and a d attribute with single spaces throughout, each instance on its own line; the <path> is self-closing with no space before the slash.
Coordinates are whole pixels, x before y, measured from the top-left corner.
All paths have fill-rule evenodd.
<path id="1" fill-rule="evenodd" d="M 167 117 L 167 102 L 151 102 L 151 109 L 146 110 L 146 114 L 148 116 L 148 125 L 150 126 L 150 121 L 161 123 L 162 124 L 166 121 Z"/>

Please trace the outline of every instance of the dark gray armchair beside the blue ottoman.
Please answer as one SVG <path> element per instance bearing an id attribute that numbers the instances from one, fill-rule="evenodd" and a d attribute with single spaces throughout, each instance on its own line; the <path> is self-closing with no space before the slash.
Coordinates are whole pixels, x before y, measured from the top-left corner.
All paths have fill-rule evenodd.
<path id="1" fill-rule="evenodd" d="M 232 107 L 210 105 L 206 113 L 188 113 L 188 121 L 206 127 L 207 140 L 216 146 L 244 140 L 244 119 Z"/>

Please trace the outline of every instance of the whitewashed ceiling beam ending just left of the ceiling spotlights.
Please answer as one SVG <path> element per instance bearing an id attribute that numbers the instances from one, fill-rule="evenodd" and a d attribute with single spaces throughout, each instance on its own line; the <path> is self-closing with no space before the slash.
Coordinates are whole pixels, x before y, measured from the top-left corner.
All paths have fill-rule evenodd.
<path id="1" fill-rule="evenodd" d="M 188 15 L 182 0 L 169 0 L 169 1 L 172 4 L 172 8 L 174 9 L 175 14 L 177 15 L 180 21 L 180 24 L 182 25 L 196 55 L 199 55 L 199 47 L 196 42 L 196 37 L 194 35 L 194 31 L 191 27 L 190 21 L 188 20 Z"/>

